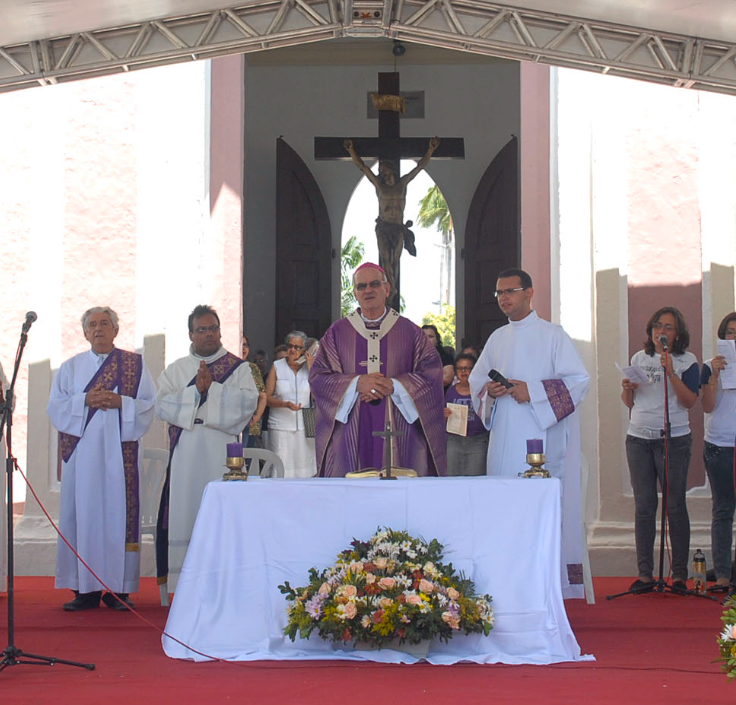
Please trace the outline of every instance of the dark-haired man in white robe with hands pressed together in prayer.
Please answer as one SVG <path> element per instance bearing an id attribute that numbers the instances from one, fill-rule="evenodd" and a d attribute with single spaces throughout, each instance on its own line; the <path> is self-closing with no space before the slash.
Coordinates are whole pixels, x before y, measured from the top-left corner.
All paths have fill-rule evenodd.
<path id="1" fill-rule="evenodd" d="M 189 315 L 189 354 L 158 380 L 156 414 L 169 424 L 170 461 L 156 531 L 159 583 L 174 592 L 202 493 L 222 477 L 226 446 L 253 416 L 258 390 L 250 365 L 222 347 L 220 317 L 211 306 Z"/>

